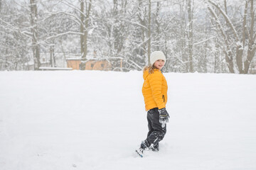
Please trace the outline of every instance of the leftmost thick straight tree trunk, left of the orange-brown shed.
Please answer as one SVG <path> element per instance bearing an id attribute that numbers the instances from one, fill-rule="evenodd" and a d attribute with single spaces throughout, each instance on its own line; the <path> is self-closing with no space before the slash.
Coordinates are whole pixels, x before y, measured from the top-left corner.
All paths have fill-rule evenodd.
<path id="1" fill-rule="evenodd" d="M 36 0 L 30 0 L 31 6 L 31 33 L 32 33 L 32 50 L 33 50 L 33 61 L 34 61 L 34 69 L 38 70 L 41 66 L 40 62 L 40 49 L 38 45 L 38 28 L 37 28 L 37 6 Z"/>

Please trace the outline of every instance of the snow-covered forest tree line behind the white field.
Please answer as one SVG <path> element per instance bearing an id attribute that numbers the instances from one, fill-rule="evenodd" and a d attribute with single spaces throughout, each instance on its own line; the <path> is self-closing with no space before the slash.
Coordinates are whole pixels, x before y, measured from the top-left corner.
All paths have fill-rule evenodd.
<path id="1" fill-rule="evenodd" d="M 38 70 L 43 57 L 107 60 L 142 70 L 154 50 L 164 72 L 249 74 L 253 0 L 0 0 L 0 70 Z"/>

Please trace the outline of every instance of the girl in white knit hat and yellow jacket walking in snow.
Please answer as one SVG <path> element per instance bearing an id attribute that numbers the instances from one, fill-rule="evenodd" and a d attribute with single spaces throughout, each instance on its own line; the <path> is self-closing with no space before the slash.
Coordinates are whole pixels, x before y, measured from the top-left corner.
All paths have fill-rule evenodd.
<path id="1" fill-rule="evenodd" d="M 166 57 L 161 51 L 154 51 L 150 55 L 150 65 L 144 68 L 144 84 L 142 94 L 149 132 L 139 148 L 141 154 L 146 149 L 159 151 L 159 142 L 166 134 L 166 123 L 169 122 L 169 114 L 166 111 L 167 83 L 161 69 L 164 67 Z"/>

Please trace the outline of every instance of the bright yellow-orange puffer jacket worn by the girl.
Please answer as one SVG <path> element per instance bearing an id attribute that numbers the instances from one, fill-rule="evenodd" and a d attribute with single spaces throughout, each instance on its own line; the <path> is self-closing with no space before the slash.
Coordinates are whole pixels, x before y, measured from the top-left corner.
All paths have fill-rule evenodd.
<path id="1" fill-rule="evenodd" d="M 149 111 L 151 108 L 165 108 L 168 86 L 161 71 L 154 69 L 154 73 L 149 74 L 149 71 L 146 70 L 143 73 L 143 79 L 142 94 L 146 111 Z"/>

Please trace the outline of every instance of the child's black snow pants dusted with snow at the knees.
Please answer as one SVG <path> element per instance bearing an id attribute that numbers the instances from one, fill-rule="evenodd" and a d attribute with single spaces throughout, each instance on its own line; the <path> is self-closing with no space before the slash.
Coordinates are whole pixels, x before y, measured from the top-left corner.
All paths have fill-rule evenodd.
<path id="1" fill-rule="evenodd" d="M 163 140 L 164 135 L 166 135 L 166 125 L 162 128 L 161 123 L 159 123 L 158 108 L 152 108 L 147 112 L 147 120 L 149 123 L 149 132 L 146 140 L 150 145 L 154 144 L 156 146 Z"/>

